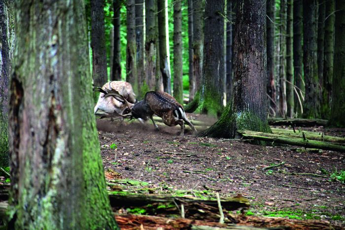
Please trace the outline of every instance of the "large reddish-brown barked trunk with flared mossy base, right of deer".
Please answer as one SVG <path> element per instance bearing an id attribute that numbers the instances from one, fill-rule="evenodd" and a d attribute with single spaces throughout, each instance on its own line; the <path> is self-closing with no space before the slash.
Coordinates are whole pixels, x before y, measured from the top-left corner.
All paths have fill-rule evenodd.
<path id="1" fill-rule="evenodd" d="M 234 138 L 239 129 L 271 132 L 266 99 L 266 0 L 237 3 L 234 94 L 220 119 L 201 135 Z M 248 17 L 251 15 L 251 17 Z"/>

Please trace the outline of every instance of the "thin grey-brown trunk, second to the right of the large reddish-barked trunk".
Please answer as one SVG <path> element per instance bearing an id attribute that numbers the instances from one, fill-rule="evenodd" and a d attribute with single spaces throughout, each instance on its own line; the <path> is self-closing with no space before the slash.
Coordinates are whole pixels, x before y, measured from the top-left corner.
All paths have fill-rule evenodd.
<path id="1" fill-rule="evenodd" d="M 286 0 L 280 0 L 279 111 L 286 114 Z"/>

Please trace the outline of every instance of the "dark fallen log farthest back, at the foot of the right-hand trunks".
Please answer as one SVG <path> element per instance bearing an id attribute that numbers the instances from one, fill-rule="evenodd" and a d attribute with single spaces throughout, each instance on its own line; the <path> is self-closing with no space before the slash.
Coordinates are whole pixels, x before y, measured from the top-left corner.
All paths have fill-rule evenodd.
<path id="1" fill-rule="evenodd" d="M 285 119 L 285 118 L 268 118 L 269 125 L 295 125 L 295 126 L 327 126 L 328 120 L 322 119 L 303 119 L 303 118 L 294 118 L 294 119 Z"/>

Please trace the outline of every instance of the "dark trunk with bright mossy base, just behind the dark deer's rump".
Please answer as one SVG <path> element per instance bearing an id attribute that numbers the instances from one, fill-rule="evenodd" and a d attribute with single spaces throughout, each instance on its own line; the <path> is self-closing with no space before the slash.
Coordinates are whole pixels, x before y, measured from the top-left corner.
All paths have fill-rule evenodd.
<path id="1" fill-rule="evenodd" d="M 207 1 L 203 75 L 195 99 L 190 103 L 197 113 L 217 116 L 223 110 L 224 89 L 224 0 Z M 195 53 L 194 53 L 195 54 Z M 186 111 L 193 111 L 186 108 Z"/>

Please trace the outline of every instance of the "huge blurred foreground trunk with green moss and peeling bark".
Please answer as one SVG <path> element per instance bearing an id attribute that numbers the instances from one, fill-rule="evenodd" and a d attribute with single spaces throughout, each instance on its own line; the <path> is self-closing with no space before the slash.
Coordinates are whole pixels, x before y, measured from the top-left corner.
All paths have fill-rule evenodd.
<path id="1" fill-rule="evenodd" d="M 16 15 L 8 228 L 117 229 L 92 112 L 84 2 L 16 1 Z"/>

